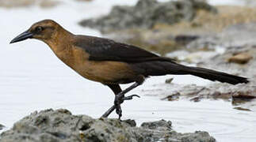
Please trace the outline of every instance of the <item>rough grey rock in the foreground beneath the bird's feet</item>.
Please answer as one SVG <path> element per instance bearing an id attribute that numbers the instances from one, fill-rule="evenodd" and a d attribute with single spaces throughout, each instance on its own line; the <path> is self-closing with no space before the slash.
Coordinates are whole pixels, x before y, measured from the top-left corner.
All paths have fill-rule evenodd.
<path id="1" fill-rule="evenodd" d="M 171 122 L 145 122 L 136 127 L 135 121 L 94 119 L 86 115 L 72 115 L 68 110 L 42 110 L 17 121 L 13 128 L 3 132 L 1 142 L 26 141 L 216 141 L 206 132 L 176 133 Z"/>

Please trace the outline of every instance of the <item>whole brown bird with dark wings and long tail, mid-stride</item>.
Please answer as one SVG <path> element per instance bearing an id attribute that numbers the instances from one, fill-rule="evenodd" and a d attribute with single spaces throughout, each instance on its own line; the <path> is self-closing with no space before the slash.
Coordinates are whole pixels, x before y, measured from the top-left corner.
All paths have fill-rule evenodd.
<path id="1" fill-rule="evenodd" d="M 120 104 L 134 96 L 124 96 L 136 88 L 146 77 L 166 74 L 190 74 L 208 80 L 229 84 L 248 83 L 245 77 L 218 72 L 212 69 L 180 65 L 171 58 L 160 57 L 132 45 L 117 43 L 111 39 L 74 35 L 55 21 L 39 21 L 21 33 L 10 43 L 25 39 L 39 39 L 48 44 L 55 55 L 82 77 L 107 85 L 115 93 L 114 105 L 102 115 L 108 117 L 116 109 L 122 116 Z M 132 83 L 121 90 L 119 84 Z"/>

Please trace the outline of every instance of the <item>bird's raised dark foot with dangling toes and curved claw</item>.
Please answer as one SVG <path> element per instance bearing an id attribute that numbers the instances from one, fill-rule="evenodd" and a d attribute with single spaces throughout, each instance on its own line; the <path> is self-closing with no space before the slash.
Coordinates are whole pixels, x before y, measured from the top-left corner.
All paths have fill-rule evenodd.
<path id="1" fill-rule="evenodd" d="M 121 108 L 121 104 L 124 103 L 124 100 L 131 100 L 133 99 L 133 97 L 139 97 L 139 95 L 128 95 L 128 96 L 124 96 L 123 94 L 117 94 L 115 97 L 115 101 L 114 101 L 114 105 L 116 107 L 116 113 L 118 114 L 118 118 L 120 119 L 122 117 L 122 108 Z"/>

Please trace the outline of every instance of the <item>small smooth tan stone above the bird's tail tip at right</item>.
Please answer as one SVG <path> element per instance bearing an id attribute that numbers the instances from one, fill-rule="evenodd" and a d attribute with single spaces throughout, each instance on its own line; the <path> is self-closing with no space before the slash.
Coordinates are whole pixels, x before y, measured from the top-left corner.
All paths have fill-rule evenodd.
<path id="1" fill-rule="evenodd" d="M 231 58 L 228 58 L 228 62 L 235 62 L 238 64 L 246 64 L 252 58 L 253 57 L 248 53 L 239 53 L 239 54 L 235 54 Z"/>

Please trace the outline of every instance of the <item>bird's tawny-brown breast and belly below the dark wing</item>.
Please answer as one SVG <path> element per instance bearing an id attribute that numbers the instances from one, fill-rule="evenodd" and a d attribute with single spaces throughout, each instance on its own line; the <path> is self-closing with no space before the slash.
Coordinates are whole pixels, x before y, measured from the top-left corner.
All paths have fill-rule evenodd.
<path id="1" fill-rule="evenodd" d="M 82 77 L 103 84 L 122 82 L 136 77 L 136 74 L 127 63 L 90 61 L 90 54 L 78 47 L 73 47 L 71 50 L 66 50 L 56 55 Z"/>

